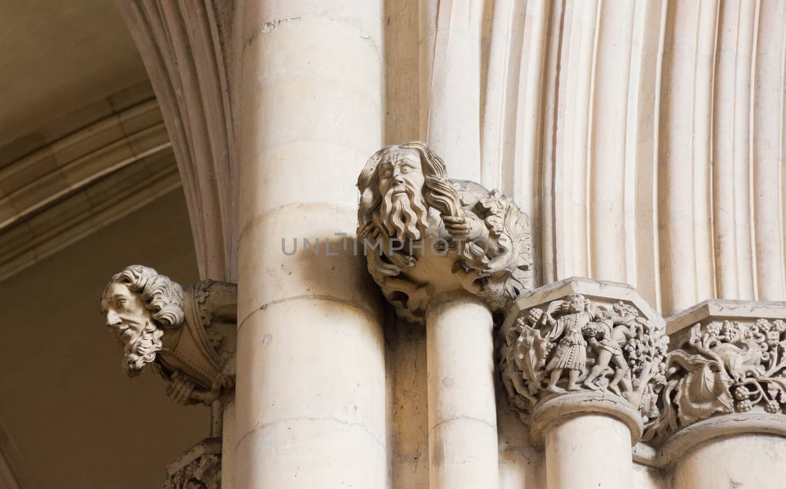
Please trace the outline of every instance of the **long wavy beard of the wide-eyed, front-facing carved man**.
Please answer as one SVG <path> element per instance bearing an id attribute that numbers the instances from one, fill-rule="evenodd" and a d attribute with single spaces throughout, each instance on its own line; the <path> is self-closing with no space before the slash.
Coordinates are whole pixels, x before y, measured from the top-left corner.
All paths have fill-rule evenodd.
<path id="1" fill-rule="evenodd" d="M 394 187 L 387 191 L 382 199 L 380 206 L 380 217 L 382 224 L 391 237 L 397 237 L 403 241 L 418 241 L 428 227 L 426 208 L 423 197 L 415 192 L 408 183 L 403 184 L 406 193 L 393 195 L 400 190 L 401 186 Z"/>

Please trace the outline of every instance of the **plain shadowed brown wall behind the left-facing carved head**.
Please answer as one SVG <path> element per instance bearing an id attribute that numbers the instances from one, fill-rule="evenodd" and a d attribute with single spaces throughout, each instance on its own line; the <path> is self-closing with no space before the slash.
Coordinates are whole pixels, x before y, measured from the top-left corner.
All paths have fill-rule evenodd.
<path id="1" fill-rule="evenodd" d="M 182 190 L 0 282 L 0 450 L 20 487 L 161 487 L 164 466 L 209 434 L 208 410 L 121 369 L 97 298 L 131 263 L 198 279 Z"/>

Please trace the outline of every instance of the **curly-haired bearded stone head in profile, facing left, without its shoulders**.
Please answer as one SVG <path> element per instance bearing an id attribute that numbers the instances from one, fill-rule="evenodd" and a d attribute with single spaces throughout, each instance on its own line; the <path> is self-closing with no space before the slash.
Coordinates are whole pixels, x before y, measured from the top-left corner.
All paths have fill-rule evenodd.
<path id="1" fill-rule="evenodd" d="M 183 289 L 152 268 L 132 265 L 104 289 L 101 313 L 123 346 L 123 370 L 135 377 L 156 360 L 163 329 L 182 324 Z"/>

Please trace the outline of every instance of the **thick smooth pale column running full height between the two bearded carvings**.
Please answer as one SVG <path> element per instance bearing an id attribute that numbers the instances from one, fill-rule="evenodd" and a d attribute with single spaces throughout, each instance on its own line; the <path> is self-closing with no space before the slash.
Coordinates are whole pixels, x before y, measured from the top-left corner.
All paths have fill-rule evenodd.
<path id="1" fill-rule="evenodd" d="M 379 308 L 336 236 L 381 144 L 381 2 L 243 8 L 235 487 L 385 487 Z"/>

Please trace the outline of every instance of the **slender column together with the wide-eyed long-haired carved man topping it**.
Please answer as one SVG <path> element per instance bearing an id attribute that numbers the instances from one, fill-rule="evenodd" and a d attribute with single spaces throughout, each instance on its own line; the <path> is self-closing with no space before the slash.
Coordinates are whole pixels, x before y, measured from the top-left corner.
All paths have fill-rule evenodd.
<path id="1" fill-rule="evenodd" d="M 423 142 L 375 153 L 358 187 L 358 237 L 378 247 L 369 272 L 402 318 L 426 323 L 430 487 L 496 487 L 491 311 L 531 289 L 529 220 L 448 179 Z"/>

